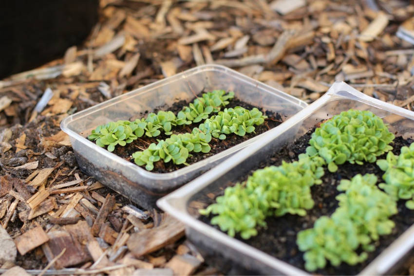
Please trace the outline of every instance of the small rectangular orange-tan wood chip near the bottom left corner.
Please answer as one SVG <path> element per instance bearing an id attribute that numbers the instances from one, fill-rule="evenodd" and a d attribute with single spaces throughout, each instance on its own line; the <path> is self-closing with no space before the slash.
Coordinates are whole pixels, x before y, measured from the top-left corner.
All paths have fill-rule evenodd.
<path id="1" fill-rule="evenodd" d="M 41 226 L 37 226 L 17 237 L 15 239 L 15 243 L 19 253 L 24 255 L 48 240 L 49 237 L 43 231 L 43 228 Z"/>

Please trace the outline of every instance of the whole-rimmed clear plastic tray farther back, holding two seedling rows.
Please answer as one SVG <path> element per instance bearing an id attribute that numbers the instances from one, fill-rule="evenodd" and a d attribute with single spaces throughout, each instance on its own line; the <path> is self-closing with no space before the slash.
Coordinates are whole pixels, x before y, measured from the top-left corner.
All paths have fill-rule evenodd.
<path id="1" fill-rule="evenodd" d="M 278 112 L 283 120 L 307 106 L 295 97 L 224 66 L 204 65 L 80 111 L 65 118 L 60 127 L 69 134 L 77 162 L 83 171 L 133 202 L 152 208 L 160 197 L 257 141 L 265 133 L 169 173 L 147 171 L 98 147 L 86 137 L 98 125 L 121 119 L 133 120 L 140 117 L 141 112 L 170 107 L 179 100 L 189 102 L 194 98 L 194 93 L 218 89 L 234 91 L 240 100 Z"/>

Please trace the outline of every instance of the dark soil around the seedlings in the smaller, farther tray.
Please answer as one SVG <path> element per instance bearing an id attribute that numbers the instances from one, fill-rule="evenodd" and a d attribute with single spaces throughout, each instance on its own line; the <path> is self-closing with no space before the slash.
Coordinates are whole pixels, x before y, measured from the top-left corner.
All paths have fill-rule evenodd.
<path id="1" fill-rule="evenodd" d="M 182 108 L 186 105 L 188 105 L 186 101 L 179 101 L 173 104 L 170 108 L 160 108 L 159 110 L 170 110 L 174 112 L 175 114 L 177 114 L 178 111 L 182 110 Z M 272 111 L 263 110 L 260 107 L 250 105 L 237 98 L 233 98 L 229 100 L 229 104 L 226 106 L 226 108 L 234 108 L 237 106 L 244 107 L 245 109 L 248 109 L 248 110 L 251 110 L 253 108 L 258 108 L 268 118 L 264 120 L 264 124 L 260 126 L 255 126 L 256 128 L 255 132 L 247 133 L 245 136 L 229 134 L 229 135 L 226 135 L 227 136 L 226 140 L 219 140 L 216 138 L 212 138 L 211 142 L 209 143 L 211 150 L 207 153 L 191 152 L 192 156 L 188 157 L 187 159 L 187 163 L 189 165 L 194 164 L 203 159 L 206 159 L 216 153 L 222 152 L 223 150 L 226 150 L 227 148 L 236 146 L 237 144 L 240 144 L 254 136 L 262 134 L 263 132 L 269 129 L 273 129 L 282 123 L 282 116 L 279 113 L 274 113 Z M 222 110 L 223 109 L 224 108 L 222 108 Z M 154 112 L 157 112 L 157 111 L 158 110 L 154 110 Z M 143 114 L 143 116 L 145 116 L 145 113 Z M 204 120 L 202 122 L 204 122 Z M 193 128 L 198 127 L 199 125 L 200 123 L 191 124 L 188 126 L 177 126 L 172 129 L 172 132 L 175 134 L 191 132 Z M 115 150 L 113 151 L 113 153 L 133 163 L 133 159 L 131 158 L 132 153 L 134 153 L 135 151 L 139 151 L 139 150 L 143 150 L 147 148 L 151 143 L 157 143 L 157 139 L 161 140 L 161 139 L 166 139 L 168 137 L 169 136 L 163 133 L 154 138 L 143 136 L 133 141 L 132 143 L 127 144 L 125 147 L 119 147 L 119 146 L 115 147 Z M 141 166 L 141 167 L 145 168 L 145 166 Z M 160 162 L 154 163 L 154 169 L 151 172 L 166 173 L 166 172 L 171 172 L 171 171 L 180 169 L 182 167 L 185 167 L 185 165 L 175 165 L 172 162 L 164 163 L 160 161 Z"/>

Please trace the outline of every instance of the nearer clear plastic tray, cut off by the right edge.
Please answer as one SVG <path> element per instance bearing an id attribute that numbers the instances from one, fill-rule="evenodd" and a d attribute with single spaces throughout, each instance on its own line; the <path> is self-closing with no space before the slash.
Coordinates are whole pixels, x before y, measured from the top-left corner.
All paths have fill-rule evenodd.
<path id="1" fill-rule="evenodd" d="M 249 175 L 252 168 L 301 137 L 317 122 L 351 108 L 371 110 L 390 125 L 390 131 L 396 133 L 396 136 L 412 138 L 414 135 L 414 112 L 376 100 L 343 82 L 337 82 L 320 99 L 285 121 L 278 129 L 268 131 L 254 145 L 241 150 L 202 177 L 160 199 L 158 206 L 184 222 L 188 239 L 198 246 L 206 260 L 213 261 L 224 272 L 307 275 L 307 272 L 199 221 L 198 210 L 206 207 L 203 204 L 206 197 L 211 198 L 226 186 Z M 413 245 L 414 225 L 360 271 L 360 274 L 392 273 L 403 258 L 409 255 Z"/>

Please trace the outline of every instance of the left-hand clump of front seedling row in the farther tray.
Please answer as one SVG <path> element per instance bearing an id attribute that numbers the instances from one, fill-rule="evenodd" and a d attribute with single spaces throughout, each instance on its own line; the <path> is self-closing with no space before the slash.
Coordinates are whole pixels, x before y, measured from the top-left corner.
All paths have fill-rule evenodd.
<path id="1" fill-rule="evenodd" d="M 143 151 L 132 154 L 134 162 L 138 166 L 144 166 L 147 170 L 154 168 L 154 162 L 163 160 L 165 163 L 172 161 L 176 165 L 186 164 L 189 152 L 210 151 L 208 142 L 211 140 L 209 133 L 184 133 L 172 134 L 166 140 L 160 140 L 158 144 L 152 143 L 150 147 Z"/>

